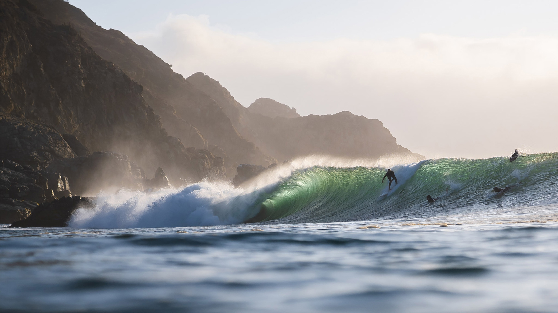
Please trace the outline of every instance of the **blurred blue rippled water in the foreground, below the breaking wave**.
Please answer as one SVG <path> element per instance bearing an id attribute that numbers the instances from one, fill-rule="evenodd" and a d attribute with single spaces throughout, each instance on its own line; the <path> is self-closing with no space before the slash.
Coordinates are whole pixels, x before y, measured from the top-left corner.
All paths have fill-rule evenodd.
<path id="1" fill-rule="evenodd" d="M 0 228 L 0 309 L 556 311 L 558 223 L 530 218 Z"/>

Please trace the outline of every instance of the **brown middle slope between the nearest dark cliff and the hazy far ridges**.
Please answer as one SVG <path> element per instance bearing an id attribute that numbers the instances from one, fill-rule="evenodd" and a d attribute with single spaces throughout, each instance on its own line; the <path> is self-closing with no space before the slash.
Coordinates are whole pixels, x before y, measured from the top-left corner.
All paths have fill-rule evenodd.
<path id="1" fill-rule="evenodd" d="M 131 79 L 140 83 L 143 97 L 163 126 L 187 146 L 207 148 L 229 161 L 268 165 L 276 160 L 240 136 L 229 116 L 214 99 L 194 88 L 145 47 L 117 30 L 95 25 L 78 8 L 61 0 L 32 0 L 45 17 L 57 25 L 70 23 L 103 59 L 114 62 Z M 230 112 L 229 112 L 230 113 Z M 230 115 L 232 116 L 232 115 Z M 202 136 L 203 134 L 203 136 Z M 218 148 L 215 148 L 218 146 Z M 223 155 L 224 154 L 224 155 Z"/>

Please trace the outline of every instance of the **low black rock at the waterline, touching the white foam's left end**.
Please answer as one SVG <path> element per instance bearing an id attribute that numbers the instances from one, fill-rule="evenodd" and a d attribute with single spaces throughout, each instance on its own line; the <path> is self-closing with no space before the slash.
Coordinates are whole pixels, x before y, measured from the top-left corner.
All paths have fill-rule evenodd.
<path id="1" fill-rule="evenodd" d="M 66 197 L 37 206 L 28 218 L 15 221 L 11 227 L 67 227 L 75 210 L 94 207 L 93 201 L 89 198 Z"/>

